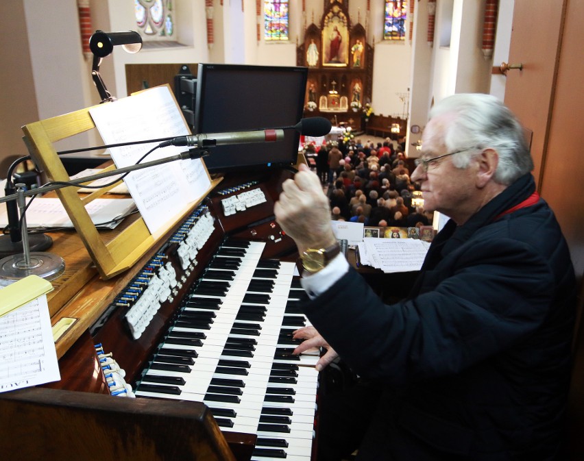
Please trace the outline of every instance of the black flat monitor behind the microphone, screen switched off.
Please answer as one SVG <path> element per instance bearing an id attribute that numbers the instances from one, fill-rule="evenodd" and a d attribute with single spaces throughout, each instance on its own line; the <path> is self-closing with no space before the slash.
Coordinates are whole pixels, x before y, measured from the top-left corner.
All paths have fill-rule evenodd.
<path id="1" fill-rule="evenodd" d="M 199 64 L 195 134 L 296 125 L 302 119 L 306 67 Z M 280 142 L 218 145 L 204 158 L 211 173 L 296 163 L 300 133 L 284 130 Z"/>

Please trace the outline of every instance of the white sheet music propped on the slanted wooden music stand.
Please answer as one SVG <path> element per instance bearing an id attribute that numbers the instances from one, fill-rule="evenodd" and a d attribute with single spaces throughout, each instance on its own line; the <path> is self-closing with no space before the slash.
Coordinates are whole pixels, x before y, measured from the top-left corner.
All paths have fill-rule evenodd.
<path id="1" fill-rule="evenodd" d="M 191 134 L 167 86 L 151 88 L 99 105 L 90 110 L 106 144 Z M 110 149 L 118 168 L 135 164 L 157 143 Z M 143 160 L 149 162 L 184 152 L 186 147 L 164 147 Z M 186 203 L 202 197 L 210 179 L 202 160 L 179 160 L 133 171 L 124 182 L 150 231 L 154 234 L 183 210 Z"/>

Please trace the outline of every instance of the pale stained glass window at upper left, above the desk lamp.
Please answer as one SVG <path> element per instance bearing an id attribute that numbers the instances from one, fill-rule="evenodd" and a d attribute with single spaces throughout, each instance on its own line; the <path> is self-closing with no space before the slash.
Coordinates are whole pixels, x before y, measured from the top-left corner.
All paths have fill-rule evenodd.
<path id="1" fill-rule="evenodd" d="M 172 0 L 134 0 L 138 33 L 145 40 L 174 40 Z"/>

